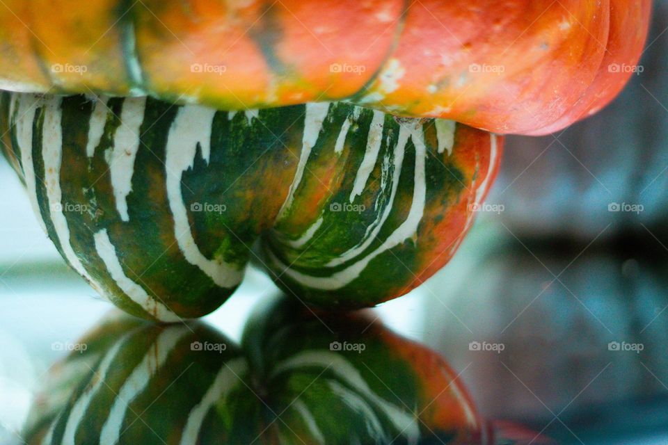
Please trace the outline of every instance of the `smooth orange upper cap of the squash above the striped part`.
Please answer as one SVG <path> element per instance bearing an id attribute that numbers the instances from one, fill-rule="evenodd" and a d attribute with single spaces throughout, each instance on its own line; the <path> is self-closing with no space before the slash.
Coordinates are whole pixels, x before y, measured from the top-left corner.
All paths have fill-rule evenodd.
<path id="1" fill-rule="evenodd" d="M 148 94 L 228 110 L 347 99 L 527 134 L 562 129 L 617 95 L 651 8 L 650 0 L 3 4 L 8 90 Z"/>

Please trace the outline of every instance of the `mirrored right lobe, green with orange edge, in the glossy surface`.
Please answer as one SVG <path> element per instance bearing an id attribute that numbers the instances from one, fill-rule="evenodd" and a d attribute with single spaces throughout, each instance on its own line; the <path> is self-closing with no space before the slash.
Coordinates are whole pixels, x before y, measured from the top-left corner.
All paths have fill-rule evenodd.
<path id="1" fill-rule="evenodd" d="M 479 443 L 481 420 L 452 370 L 377 320 L 278 298 L 255 309 L 242 348 L 283 412 L 286 443 Z"/>

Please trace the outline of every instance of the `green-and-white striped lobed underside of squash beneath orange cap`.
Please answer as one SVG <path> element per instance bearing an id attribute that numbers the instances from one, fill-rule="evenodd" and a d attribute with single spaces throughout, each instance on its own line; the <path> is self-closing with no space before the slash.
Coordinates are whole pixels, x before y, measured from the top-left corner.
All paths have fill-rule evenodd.
<path id="1" fill-rule="evenodd" d="M 243 113 L 152 98 L 5 93 L 10 161 L 67 262 L 136 316 L 212 312 L 257 238 L 310 305 L 366 307 L 447 262 L 502 140 L 350 104 Z"/>

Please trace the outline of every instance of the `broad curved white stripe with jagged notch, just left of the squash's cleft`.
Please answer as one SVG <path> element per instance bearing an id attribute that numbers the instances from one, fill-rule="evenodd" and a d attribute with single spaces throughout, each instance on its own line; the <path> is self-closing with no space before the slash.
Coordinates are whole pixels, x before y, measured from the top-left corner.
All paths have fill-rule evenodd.
<path id="1" fill-rule="evenodd" d="M 203 106 L 189 105 L 179 108 L 169 129 L 166 146 L 167 198 L 174 217 L 174 234 L 185 259 L 208 275 L 216 285 L 232 288 L 241 282 L 243 271 L 227 264 L 223 259 L 208 259 L 200 252 L 188 220 L 183 200 L 181 179 L 183 172 L 193 168 L 197 146 L 202 158 L 209 162 L 211 133 L 216 111 Z"/>

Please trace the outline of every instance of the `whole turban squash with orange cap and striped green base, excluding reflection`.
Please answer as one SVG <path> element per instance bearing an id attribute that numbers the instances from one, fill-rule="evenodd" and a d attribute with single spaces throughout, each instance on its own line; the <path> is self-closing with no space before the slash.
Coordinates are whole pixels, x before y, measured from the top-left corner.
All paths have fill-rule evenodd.
<path id="1" fill-rule="evenodd" d="M 211 312 L 257 239 L 289 293 L 374 305 L 452 257 L 495 133 L 617 94 L 649 6 L 8 1 L 3 151 L 56 248 L 127 312 Z"/>

